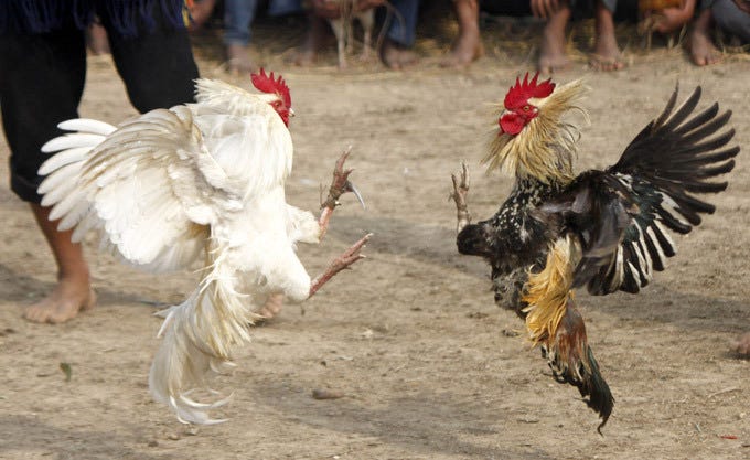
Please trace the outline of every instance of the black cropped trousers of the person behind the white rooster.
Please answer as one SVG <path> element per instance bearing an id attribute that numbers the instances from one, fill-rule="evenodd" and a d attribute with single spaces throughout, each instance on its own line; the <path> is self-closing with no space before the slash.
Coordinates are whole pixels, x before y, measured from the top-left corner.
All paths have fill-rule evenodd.
<path id="1" fill-rule="evenodd" d="M 185 29 L 175 29 L 156 11 L 156 26 L 124 36 L 106 12 L 99 15 L 136 109 L 144 113 L 193 100 L 199 74 Z M 57 124 L 78 118 L 85 78 L 85 34 L 75 22 L 43 34 L 0 34 L 0 109 L 11 150 L 11 189 L 21 200 L 41 201 L 36 171 L 49 156 L 40 148 L 62 133 Z"/>

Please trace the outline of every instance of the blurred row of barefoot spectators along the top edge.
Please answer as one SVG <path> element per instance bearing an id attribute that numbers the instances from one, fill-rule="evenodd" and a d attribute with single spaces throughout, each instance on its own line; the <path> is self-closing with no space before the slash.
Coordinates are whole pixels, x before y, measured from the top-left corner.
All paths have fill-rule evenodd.
<path id="1" fill-rule="evenodd" d="M 290 26 L 301 32 L 287 56 L 297 65 L 324 65 L 321 52 L 338 50 L 338 65 L 346 67 L 354 44 L 364 46 L 361 60 L 392 69 L 419 63 L 424 53 L 415 43 L 425 35 L 452 41 L 439 61 L 443 67 L 465 67 L 485 46 L 517 51 L 517 42 L 482 36 L 502 28 L 515 28 L 512 35 L 526 29 L 519 34 L 543 73 L 570 66 L 570 53 L 585 53 L 593 69 L 618 71 L 628 64 L 623 46 L 681 45 L 703 66 L 721 60 L 728 47 L 742 53 L 750 43 L 750 0 L 186 0 L 185 10 L 193 36 L 218 36 L 221 58 L 236 73 L 257 68 L 250 50 L 264 33 L 278 36 Z M 275 26 L 256 30 L 258 22 Z M 579 32 L 577 46 L 571 29 L 581 23 L 590 26 Z M 93 26 L 90 40 L 95 53 L 107 52 L 101 26 Z"/>

